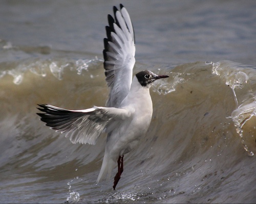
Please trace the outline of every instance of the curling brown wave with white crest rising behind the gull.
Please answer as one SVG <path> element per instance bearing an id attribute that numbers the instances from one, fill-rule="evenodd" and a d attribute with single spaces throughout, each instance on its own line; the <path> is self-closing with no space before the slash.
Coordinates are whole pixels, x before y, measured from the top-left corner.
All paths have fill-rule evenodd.
<path id="1" fill-rule="evenodd" d="M 145 67 L 137 63 L 135 72 Z M 67 193 L 69 201 L 81 202 L 256 201 L 255 68 L 231 61 L 152 67 L 170 77 L 152 87 L 150 129 L 125 155 L 120 191 L 113 192 L 112 181 L 95 185 L 104 136 L 95 146 L 74 145 L 36 115 L 39 103 L 73 110 L 104 106 L 102 60 L 1 62 L 3 184 L 26 187 L 23 194 L 17 189 L 13 202 L 40 201 L 39 194 L 60 201 Z"/>

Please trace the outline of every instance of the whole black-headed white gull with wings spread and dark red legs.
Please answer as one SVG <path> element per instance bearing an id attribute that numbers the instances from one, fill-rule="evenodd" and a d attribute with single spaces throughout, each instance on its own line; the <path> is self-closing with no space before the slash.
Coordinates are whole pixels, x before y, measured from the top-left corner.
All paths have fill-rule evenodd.
<path id="1" fill-rule="evenodd" d="M 93 106 L 84 110 L 67 110 L 38 104 L 40 120 L 56 132 L 65 134 L 72 143 L 95 144 L 102 132 L 107 134 L 105 153 L 97 183 L 111 176 L 116 162 L 115 190 L 123 172 L 123 156 L 134 149 L 145 136 L 151 123 L 153 105 L 150 87 L 157 75 L 143 70 L 133 77 L 135 64 L 135 35 L 130 15 L 120 4 L 113 7 L 114 17 L 108 15 L 105 27 L 104 73 L 110 92 L 106 107 Z"/>

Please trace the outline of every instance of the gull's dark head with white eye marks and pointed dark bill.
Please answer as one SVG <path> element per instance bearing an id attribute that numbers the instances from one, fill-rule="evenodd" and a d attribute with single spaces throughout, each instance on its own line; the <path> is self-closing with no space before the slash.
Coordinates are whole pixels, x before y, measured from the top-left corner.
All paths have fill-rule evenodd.
<path id="1" fill-rule="evenodd" d="M 168 75 L 157 75 L 152 71 L 143 70 L 135 74 L 139 83 L 143 87 L 150 87 L 150 85 L 158 79 L 163 79 L 169 77 Z"/>

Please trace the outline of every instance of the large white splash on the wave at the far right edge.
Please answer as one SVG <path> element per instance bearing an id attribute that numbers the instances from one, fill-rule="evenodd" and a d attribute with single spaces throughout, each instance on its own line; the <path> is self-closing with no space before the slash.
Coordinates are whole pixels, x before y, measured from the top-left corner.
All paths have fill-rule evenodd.
<path id="1" fill-rule="evenodd" d="M 248 120 L 252 118 L 252 116 L 256 116 L 256 94 L 250 87 L 250 81 L 253 80 L 255 75 L 254 69 L 249 69 L 248 66 L 247 69 L 245 69 L 242 64 L 230 61 L 221 61 L 211 64 L 212 73 L 223 78 L 226 81 L 226 85 L 228 85 L 232 90 L 234 101 L 236 103 L 236 109 L 231 113 L 231 118 L 234 122 L 234 126 L 237 127 L 236 131 L 241 138 L 241 143 L 244 149 L 248 152 L 249 156 L 253 156 L 254 153 L 245 144 L 245 136 L 242 127 Z M 249 88 L 246 86 L 249 86 Z M 244 91 L 238 92 L 238 89 L 244 89 Z M 242 101 L 241 103 L 238 96 Z M 251 100 L 253 100 L 253 102 L 248 104 L 248 101 Z"/>

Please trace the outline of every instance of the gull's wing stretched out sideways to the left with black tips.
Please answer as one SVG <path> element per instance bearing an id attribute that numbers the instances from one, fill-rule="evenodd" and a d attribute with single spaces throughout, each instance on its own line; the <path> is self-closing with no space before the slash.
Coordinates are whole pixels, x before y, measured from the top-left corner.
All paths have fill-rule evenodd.
<path id="1" fill-rule="evenodd" d="M 56 132 L 66 134 L 72 143 L 95 144 L 106 123 L 123 120 L 129 113 L 125 109 L 96 107 L 85 110 L 67 110 L 39 104 L 37 113 Z"/>

